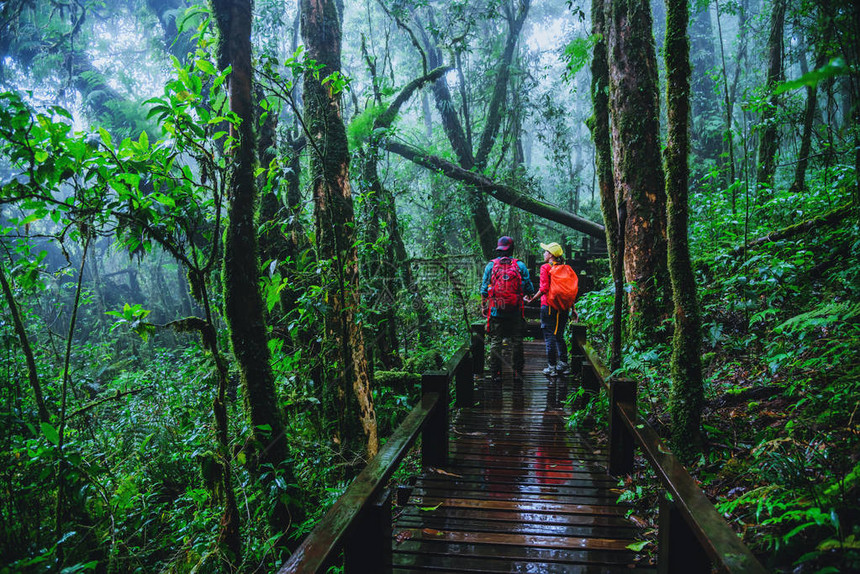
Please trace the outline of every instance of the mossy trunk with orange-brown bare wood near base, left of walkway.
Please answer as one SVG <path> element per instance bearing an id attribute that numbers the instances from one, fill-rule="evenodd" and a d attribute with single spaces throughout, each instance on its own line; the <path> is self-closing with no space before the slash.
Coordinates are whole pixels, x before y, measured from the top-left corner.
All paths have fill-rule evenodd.
<path id="1" fill-rule="evenodd" d="M 364 334 L 359 323 L 358 254 L 355 216 L 349 181 L 349 151 L 341 100 L 336 89 L 340 74 L 341 24 L 333 0 L 301 0 L 302 38 L 308 58 L 321 66 L 304 78 L 305 124 L 310 132 L 310 171 L 317 246 L 328 262 L 326 331 L 336 345 L 333 377 L 327 377 L 333 404 L 328 412 L 337 422 L 335 438 L 348 450 L 363 445 L 376 454 L 376 412 L 371 396 Z M 332 76 L 334 75 L 334 76 Z M 322 83 L 334 77 L 331 83 Z M 332 409 L 336 410 L 332 410 Z"/>

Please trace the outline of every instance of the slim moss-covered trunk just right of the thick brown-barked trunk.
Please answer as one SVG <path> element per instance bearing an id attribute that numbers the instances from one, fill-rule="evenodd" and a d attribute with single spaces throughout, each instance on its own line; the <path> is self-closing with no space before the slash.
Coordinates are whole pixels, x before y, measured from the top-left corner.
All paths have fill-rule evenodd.
<path id="1" fill-rule="evenodd" d="M 701 318 L 696 279 L 687 242 L 689 168 L 690 46 L 687 0 L 666 0 L 666 198 L 668 201 L 669 276 L 675 303 L 672 339 L 672 441 L 689 458 L 701 447 L 704 403 Z"/>

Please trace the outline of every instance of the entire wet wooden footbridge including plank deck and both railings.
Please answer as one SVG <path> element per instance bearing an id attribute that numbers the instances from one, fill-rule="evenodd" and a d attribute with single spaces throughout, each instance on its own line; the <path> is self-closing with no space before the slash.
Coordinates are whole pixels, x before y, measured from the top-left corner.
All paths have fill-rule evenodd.
<path id="1" fill-rule="evenodd" d="M 542 341 L 526 342 L 523 380 L 483 372 L 480 328 L 279 574 L 326 572 L 764 573 L 656 433 L 636 416 L 636 386 L 608 372 L 573 326 L 573 374 L 547 377 Z M 610 395 L 610 445 L 567 428 L 574 385 Z M 448 408 L 454 386 L 455 410 Z M 421 436 L 423 472 L 388 482 Z M 657 566 L 628 549 L 636 528 L 616 502 L 633 449 L 656 470 L 662 497 Z M 396 501 L 396 505 L 393 504 Z M 393 512 L 392 512 L 393 510 Z"/>

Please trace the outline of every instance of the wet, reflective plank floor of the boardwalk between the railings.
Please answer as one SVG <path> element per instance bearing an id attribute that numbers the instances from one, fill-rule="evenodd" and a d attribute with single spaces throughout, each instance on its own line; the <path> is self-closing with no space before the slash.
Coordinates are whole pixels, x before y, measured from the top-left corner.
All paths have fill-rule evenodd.
<path id="1" fill-rule="evenodd" d="M 396 517 L 395 573 L 654 572 L 626 547 L 604 453 L 567 430 L 569 377 L 550 379 L 526 342 L 524 381 L 477 384 L 452 421 L 449 464 L 427 469 Z M 576 381 L 573 381 L 576 383 Z"/>

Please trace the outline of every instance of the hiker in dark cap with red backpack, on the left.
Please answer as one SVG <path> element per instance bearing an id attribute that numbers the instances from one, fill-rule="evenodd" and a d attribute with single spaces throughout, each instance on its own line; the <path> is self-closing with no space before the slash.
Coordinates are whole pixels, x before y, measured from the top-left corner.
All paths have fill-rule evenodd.
<path id="1" fill-rule="evenodd" d="M 490 376 L 499 382 L 502 378 L 502 339 L 511 345 L 511 363 L 514 379 L 521 379 L 523 356 L 523 295 L 534 293 L 525 263 L 512 257 L 514 240 L 499 238 L 496 257 L 484 268 L 481 281 L 481 308 L 487 316 L 487 334 L 490 348 Z"/>

